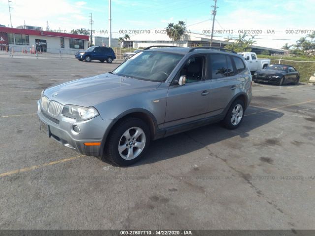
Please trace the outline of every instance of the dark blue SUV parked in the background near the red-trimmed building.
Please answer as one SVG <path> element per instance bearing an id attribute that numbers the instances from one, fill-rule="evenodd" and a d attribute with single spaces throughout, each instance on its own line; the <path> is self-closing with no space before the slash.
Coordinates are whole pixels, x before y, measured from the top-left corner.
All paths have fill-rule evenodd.
<path id="1" fill-rule="evenodd" d="M 107 63 L 112 63 L 113 60 L 116 59 L 116 56 L 112 48 L 92 46 L 87 50 L 78 51 L 75 54 L 75 58 L 80 61 L 84 60 L 86 62 L 90 62 L 91 60 L 99 60 L 100 62 L 104 62 L 106 60 Z"/>

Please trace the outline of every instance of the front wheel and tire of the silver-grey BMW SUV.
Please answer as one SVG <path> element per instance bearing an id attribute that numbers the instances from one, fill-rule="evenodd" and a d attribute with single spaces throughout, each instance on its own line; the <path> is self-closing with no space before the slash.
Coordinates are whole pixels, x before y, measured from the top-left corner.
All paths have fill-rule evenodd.
<path id="1" fill-rule="evenodd" d="M 105 158 L 119 166 L 139 161 L 150 143 L 148 125 L 139 118 L 126 118 L 118 123 L 108 136 Z"/>

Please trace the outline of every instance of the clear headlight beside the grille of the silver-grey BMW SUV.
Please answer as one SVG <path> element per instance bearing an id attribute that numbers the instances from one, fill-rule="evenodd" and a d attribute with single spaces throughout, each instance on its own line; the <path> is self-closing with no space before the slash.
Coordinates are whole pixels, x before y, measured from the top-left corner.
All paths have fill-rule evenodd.
<path id="1" fill-rule="evenodd" d="M 80 107 L 75 105 L 65 105 L 63 107 L 62 115 L 73 118 L 78 121 L 92 119 L 99 115 L 94 107 Z"/>

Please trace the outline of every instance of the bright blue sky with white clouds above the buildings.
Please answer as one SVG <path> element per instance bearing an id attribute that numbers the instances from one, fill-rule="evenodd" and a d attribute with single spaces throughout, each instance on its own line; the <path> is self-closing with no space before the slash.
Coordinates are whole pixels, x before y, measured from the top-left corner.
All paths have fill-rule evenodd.
<path id="1" fill-rule="evenodd" d="M 12 0 L 13 27 L 41 26 L 46 29 L 90 28 L 92 12 L 94 29 L 108 30 L 108 0 Z M 120 30 L 165 28 L 168 23 L 183 20 L 191 32 L 202 33 L 212 26 L 213 0 L 112 0 L 112 36 Z M 257 45 L 281 48 L 305 36 L 286 34 L 287 29 L 315 30 L 315 0 L 218 0 L 215 29 L 233 30 L 233 34 L 215 34 L 223 40 L 238 37 L 238 30 L 262 30 Z M 0 24 L 10 24 L 8 1 L 0 0 Z M 267 34 L 274 30 L 274 34 Z M 108 34 L 100 34 L 108 36 Z"/>

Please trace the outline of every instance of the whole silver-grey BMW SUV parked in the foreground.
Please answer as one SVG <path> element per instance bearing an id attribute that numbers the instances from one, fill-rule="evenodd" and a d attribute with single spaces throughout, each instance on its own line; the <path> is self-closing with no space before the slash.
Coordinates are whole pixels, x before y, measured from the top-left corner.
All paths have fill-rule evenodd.
<path id="1" fill-rule="evenodd" d="M 251 98 L 242 56 L 151 46 L 112 72 L 45 89 L 38 116 L 41 130 L 64 146 L 128 166 L 151 140 L 218 121 L 237 128 Z"/>

